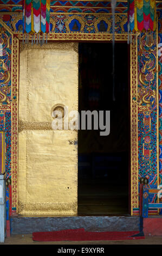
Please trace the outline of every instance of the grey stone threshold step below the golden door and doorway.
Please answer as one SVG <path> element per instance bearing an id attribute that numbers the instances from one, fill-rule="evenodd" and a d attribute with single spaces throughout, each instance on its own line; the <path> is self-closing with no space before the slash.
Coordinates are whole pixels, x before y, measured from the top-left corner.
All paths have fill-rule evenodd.
<path id="1" fill-rule="evenodd" d="M 70 216 L 12 217 L 11 234 L 85 228 L 86 231 L 138 231 L 139 217 Z"/>

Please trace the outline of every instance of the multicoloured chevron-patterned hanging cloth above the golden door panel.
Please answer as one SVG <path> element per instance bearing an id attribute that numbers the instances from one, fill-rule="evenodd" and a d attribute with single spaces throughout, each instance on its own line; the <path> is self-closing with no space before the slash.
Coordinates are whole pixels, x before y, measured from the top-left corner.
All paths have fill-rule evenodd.
<path id="1" fill-rule="evenodd" d="M 48 33 L 50 0 L 23 0 L 23 33 Z"/>

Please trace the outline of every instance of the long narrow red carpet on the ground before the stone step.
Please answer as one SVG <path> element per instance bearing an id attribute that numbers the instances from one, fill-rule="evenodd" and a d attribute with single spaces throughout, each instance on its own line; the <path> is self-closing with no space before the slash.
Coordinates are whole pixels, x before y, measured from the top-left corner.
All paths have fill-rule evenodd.
<path id="1" fill-rule="evenodd" d="M 85 229 L 66 229 L 50 232 L 33 233 L 34 241 L 97 241 L 97 240 L 129 240 L 129 239 L 145 239 L 145 236 L 134 236 L 139 231 L 126 232 L 89 232 Z"/>

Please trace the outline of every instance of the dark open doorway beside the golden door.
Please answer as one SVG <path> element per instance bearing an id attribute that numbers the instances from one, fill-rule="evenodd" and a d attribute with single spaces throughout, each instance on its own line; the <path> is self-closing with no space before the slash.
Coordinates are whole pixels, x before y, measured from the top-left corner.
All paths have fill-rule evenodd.
<path id="1" fill-rule="evenodd" d="M 129 57 L 115 43 L 79 43 L 79 112 L 110 111 L 110 133 L 78 133 L 78 215 L 129 214 Z M 93 120 L 93 119 L 92 119 Z"/>

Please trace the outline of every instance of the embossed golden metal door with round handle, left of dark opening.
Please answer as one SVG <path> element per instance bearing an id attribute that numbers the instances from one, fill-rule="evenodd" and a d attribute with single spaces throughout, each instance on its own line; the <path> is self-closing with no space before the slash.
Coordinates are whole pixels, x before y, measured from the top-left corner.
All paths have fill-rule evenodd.
<path id="1" fill-rule="evenodd" d="M 51 112 L 78 108 L 78 45 L 20 48 L 18 214 L 77 215 L 77 131 L 53 130 Z"/>

